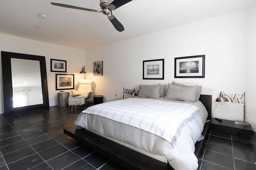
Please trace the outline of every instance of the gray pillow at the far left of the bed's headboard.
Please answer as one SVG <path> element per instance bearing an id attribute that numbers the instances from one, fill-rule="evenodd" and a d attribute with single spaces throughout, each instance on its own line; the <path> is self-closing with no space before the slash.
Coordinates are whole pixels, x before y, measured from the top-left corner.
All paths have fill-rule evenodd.
<path id="1" fill-rule="evenodd" d="M 160 97 L 160 83 L 157 85 L 140 85 L 138 97 Z"/>

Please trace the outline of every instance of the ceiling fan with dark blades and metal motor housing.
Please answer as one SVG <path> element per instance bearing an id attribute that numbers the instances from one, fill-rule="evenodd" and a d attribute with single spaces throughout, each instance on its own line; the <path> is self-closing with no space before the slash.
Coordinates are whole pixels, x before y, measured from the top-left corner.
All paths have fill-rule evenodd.
<path id="1" fill-rule="evenodd" d="M 100 0 L 100 9 L 99 10 L 92 10 L 88 8 L 82 8 L 78 6 L 71 6 L 66 4 L 58 4 L 51 2 L 52 5 L 61 6 L 65 8 L 73 8 L 77 10 L 85 10 L 85 11 L 91 11 L 91 12 L 102 12 L 102 14 L 108 16 L 108 19 L 113 24 L 113 26 L 118 30 L 119 32 L 124 31 L 124 26 L 116 19 L 116 17 L 112 14 L 112 10 L 115 10 L 119 8 L 120 6 L 123 6 L 124 4 L 130 2 L 132 0 Z"/>

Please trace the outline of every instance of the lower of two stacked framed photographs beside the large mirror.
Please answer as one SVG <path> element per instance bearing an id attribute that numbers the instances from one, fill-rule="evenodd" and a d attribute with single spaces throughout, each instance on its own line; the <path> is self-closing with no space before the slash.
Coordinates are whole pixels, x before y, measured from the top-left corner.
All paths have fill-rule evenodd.
<path id="1" fill-rule="evenodd" d="M 74 89 L 74 74 L 56 74 L 56 90 Z"/>

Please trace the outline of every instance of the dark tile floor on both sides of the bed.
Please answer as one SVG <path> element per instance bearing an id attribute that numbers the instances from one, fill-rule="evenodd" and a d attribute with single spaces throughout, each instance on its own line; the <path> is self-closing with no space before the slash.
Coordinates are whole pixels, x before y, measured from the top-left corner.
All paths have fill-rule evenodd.
<path id="1" fill-rule="evenodd" d="M 0 170 L 124 169 L 63 133 L 82 110 L 50 107 L 0 115 Z M 255 132 L 238 136 L 209 130 L 198 162 L 198 170 L 256 170 Z"/>

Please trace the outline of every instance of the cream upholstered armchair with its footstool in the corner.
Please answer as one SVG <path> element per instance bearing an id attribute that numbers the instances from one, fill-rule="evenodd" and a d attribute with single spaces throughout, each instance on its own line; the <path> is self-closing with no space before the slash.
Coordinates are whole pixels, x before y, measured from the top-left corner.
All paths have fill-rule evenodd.
<path id="1" fill-rule="evenodd" d="M 84 106 L 85 100 L 89 99 L 92 95 L 92 80 L 88 79 L 81 79 L 78 80 L 79 86 L 77 90 L 73 90 L 73 96 L 68 97 L 68 105 L 71 107 L 73 106 Z"/>

